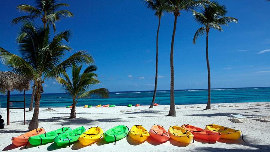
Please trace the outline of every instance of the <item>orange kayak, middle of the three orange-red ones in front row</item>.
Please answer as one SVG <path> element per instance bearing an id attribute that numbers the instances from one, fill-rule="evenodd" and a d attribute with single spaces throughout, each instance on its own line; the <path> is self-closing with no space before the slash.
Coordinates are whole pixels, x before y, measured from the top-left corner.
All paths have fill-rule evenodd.
<path id="1" fill-rule="evenodd" d="M 170 138 L 167 130 L 161 125 L 153 125 L 153 127 L 149 130 L 149 134 L 158 142 L 167 142 L 167 140 Z"/>

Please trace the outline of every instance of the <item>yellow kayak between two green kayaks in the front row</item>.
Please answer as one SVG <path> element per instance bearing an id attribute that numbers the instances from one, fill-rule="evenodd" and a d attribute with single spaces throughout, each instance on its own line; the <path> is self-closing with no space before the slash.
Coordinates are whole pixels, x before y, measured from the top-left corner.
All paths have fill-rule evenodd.
<path id="1" fill-rule="evenodd" d="M 91 127 L 79 136 L 79 142 L 86 146 L 98 141 L 103 135 L 103 130 L 100 127 Z"/>

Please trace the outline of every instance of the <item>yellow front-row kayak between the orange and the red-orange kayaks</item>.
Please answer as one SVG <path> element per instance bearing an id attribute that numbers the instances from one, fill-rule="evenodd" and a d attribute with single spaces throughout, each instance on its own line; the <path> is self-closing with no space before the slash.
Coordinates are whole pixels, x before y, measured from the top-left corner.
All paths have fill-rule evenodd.
<path id="1" fill-rule="evenodd" d="M 168 130 L 168 133 L 170 135 L 170 138 L 172 138 L 173 140 L 185 144 L 189 144 L 194 138 L 194 135 L 190 131 L 179 126 L 171 126 Z"/>

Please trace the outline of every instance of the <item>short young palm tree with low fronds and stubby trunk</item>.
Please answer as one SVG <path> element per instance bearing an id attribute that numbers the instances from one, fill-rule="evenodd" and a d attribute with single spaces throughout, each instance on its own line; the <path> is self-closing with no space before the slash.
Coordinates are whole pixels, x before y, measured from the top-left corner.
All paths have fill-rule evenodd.
<path id="1" fill-rule="evenodd" d="M 96 94 L 104 98 L 109 97 L 109 90 L 106 88 L 89 90 L 93 85 L 100 83 L 97 79 L 97 74 L 93 73 L 97 70 L 97 67 L 95 65 L 90 65 L 83 71 L 83 73 L 80 74 L 81 69 L 82 65 L 73 65 L 71 80 L 66 72 L 63 72 L 64 78 L 57 78 L 57 81 L 61 84 L 65 93 L 70 93 L 72 97 L 73 105 L 70 113 L 71 119 L 76 118 L 76 104 L 79 98 L 89 97 L 92 94 Z"/>

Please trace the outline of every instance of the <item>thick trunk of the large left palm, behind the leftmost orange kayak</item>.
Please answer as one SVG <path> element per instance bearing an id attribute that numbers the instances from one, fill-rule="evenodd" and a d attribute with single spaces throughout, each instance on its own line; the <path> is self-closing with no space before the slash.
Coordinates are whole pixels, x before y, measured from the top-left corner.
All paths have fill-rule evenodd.
<path id="1" fill-rule="evenodd" d="M 33 113 L 32 120 L 29 123 L 28 130 L 33 130 L 38 128 L 38 114 L 39 114 L 39 104 L 41 99 L 41 83 L 38 84 L 35 90 L 35 109 Z"/>

